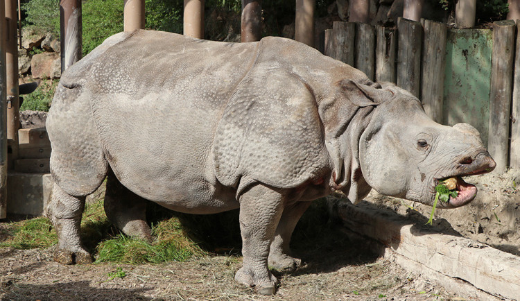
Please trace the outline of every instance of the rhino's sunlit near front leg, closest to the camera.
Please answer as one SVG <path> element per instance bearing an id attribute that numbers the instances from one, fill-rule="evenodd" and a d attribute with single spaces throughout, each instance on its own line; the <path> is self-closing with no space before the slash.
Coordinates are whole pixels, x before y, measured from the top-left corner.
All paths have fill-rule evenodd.
<path id="1" fill-rule="evenodd" d="M 235 280 L 262 295 L 276 292 L 277 279 L 268 268 L 269 248 L 283 210 L 284 196 L 257 184 L 240 197 L 243 266 Z"/>

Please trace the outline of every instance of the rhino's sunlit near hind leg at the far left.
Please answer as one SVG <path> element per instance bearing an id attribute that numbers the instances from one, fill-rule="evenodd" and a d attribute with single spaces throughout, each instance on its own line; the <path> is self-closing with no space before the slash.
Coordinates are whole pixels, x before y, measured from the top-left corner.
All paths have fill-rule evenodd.
<path id="1" fill-rule="evenodd" d="M 85 209 L 85 196 L 75 197 L 54 184 L 47 215 L 51 218 L 58 246 L 54 260 L 60 264 L 90 264 L 92 256 L 85 250 L 80 239 L 81 215 Z"/>

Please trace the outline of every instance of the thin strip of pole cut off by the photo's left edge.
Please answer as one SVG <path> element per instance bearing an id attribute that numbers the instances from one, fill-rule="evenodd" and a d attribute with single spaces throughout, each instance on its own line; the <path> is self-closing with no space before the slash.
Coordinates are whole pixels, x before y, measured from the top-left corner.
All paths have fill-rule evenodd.
<path id="1" fill-rule="evenodd" d="M 0 18 L 6 15 L 0 1 Z M 6 22 L 0 22 L 0 218 L 7 216 L 7 102 L 6 102 Z"/>

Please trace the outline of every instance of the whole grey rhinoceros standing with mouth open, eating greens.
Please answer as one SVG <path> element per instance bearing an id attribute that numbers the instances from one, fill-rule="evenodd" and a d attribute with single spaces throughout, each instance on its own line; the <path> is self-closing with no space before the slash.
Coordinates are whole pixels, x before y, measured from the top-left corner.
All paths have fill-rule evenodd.
<path id="1" fill-rule="evenodd" d="M 235 279 L 273 294 L 268 264 L 293 270 L 289 242 L 312 200 L 373 188 L 432 205 L 456 177 L 492 171 L 478 131 L 442 126 L 390 83 L 281 37 L 225 43 L 135 31 L 109 37 L 64 72 L 46 121 L 52 145 L 55 259 L 92 261 L 80 242 L 85 196 L 107 178 L 105 212 L 151 239 L 147 200 L 178 212 L 239 208 L 243 266 Z"/>

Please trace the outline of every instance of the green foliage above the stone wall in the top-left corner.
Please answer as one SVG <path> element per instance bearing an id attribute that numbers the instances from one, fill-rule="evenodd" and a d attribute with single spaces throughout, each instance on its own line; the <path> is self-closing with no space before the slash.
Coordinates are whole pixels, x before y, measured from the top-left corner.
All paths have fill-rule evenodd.
<path id="1" fill-rule="evenodd" d="M 60 35 L 60 0 L 31 0 L 21 4 L 25 12 L 24 26 L 34 26 L 45 32 Z"/>

